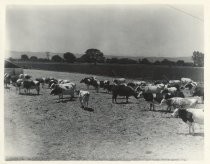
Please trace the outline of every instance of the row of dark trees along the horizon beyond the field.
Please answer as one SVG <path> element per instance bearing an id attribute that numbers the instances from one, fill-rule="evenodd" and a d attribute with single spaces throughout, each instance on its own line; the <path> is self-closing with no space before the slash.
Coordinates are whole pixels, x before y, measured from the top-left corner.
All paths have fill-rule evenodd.
<path id="1" fill-rule="evenodd" d="M 9 58 L 10 60 L 15 60 Z M 84 55 L 81 57 L 76 57 L 71 52 L 65 52 L 63 57 L 60 55 L 54 55 L 49 58 L 49 52 L 46 52 L 46 58 L 37 58 L 36 56 L 28 57 L 27 54 L 22 54 L 21 61 L 40 61 L 40 62 L 67 62 L 67 63 L 108 63 L 108 64 L 152 64 L 152 65 L 168 65 L 168 66 L 204 66 L 204 54 L 199 51 L 194 51 L 192 55 L 192 62 L 184 62 L 184 60 L 178 60 L 176 62 L 170 61 L 168 59 L 163 59 L 162 61 L 156 60 L 155 62 L 149 61 L 147 58 L 134 60 L 131 58 L 105 58 L 103 52 L 98 49 L 88 49 L 85 51 Z"/>

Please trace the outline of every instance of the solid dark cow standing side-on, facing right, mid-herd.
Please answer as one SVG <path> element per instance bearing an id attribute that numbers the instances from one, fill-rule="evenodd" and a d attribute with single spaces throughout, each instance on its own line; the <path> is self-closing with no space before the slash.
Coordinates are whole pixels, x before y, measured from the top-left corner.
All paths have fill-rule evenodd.
<path id="1" fill-rule="evenodd" d="M 139 98 L 139 93 L 136 92 L 132 87 L 125 85 L 113 85 L 112 88 L 112 102 L 117 103 L 117 96 L 125 96 L 126 102 L 128 103 L 128 98 L 134 96 L 136 99 Z"/>

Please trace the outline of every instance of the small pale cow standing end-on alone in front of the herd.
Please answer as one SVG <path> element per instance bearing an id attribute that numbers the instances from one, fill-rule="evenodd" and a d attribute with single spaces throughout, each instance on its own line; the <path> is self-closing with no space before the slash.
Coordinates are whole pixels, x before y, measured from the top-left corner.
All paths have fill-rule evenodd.
<path id="1" fill-rule="evenodd" d="M 90 93 L 88 91 L 77 90 L 75 93 L 79 96 L 79 101 L 82 108 L 88 108 Z"/>

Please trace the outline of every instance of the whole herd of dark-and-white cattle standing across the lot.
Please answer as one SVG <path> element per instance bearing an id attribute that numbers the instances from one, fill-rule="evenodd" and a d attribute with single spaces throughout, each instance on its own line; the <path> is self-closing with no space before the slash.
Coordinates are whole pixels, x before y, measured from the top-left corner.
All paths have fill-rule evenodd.
<path id="1" fill-rule="evenodd" d="M 198 103 L 204 103 L 204 86 L 201 83 L 194 82 L 190 78 L 181 78 L 181 80 L 158 80 L 155 82 L 146 81 L 129 81 L 125 78 L 117 78 L 113 81 L 99 81 L 96 77 L 86 77 L 80 81 L 87 86 L 87 90 L 92 86 L 99 92 L 103 89 L 105 92 L 112 94 L 112 102 L 117 103 L 118 96 L 124 96 L 126 102 L 128 98 L 133 96 L 136 99 L 143 98 L 150 104 L 150 110 L 155 110 L 155 106 L 167 105 L 166 111 L 171 111 L 173 117 L 180 117 L 189 125 L 189 133 L 194 133 L 194 123 L 203 124 L 204 109 L 197 109 Z M 45 85 L 51 90 L 51 95 L 58 95 L 59 100 L 64 95 L 70 95 L 71 98 L 75 94 L 78 95 L 82 108 L 88 108 L 90 92 L 86 90 L 78 90 L 76 84 L 70 80 L 55 78 L 36 78 L 32 79 L 30 75 L 20 74 L 19 77 L 11 77 L 9 74 L 4 75 L 4 84 L 12 84 L 16 87 L 16 92 L 24 89 L 25 94 L 30 93 L 31 89 L 35 89 L 37 94 L 40 88 Z M 188 91 L 190 96 L 185 97 L 184 92 Z"/>

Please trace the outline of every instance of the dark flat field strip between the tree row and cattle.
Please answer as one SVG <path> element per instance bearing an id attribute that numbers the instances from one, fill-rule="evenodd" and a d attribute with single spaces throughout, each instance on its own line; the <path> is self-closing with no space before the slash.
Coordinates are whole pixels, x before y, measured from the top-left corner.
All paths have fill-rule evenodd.
<path id="1" fill-rule="evenodd" d="M 110 77 L 126 77 L 135 79 L 160 80 L 164 77 L 180 79 L 189 77 L 194 81 L 204 81 L 204 69 L 200 67 L 169 67 L 140 64 L 68 64 L 68 63 L 41 63 L 16 62 L 24 68 L 95 74 Z"/>

